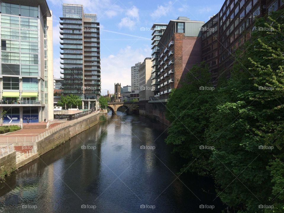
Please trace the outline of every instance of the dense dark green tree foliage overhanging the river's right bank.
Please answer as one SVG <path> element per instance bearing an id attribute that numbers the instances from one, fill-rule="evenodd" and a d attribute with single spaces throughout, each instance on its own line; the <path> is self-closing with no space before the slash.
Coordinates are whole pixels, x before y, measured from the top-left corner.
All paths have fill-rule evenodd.
<path id="1" fill-rule="evenodd" d="M 233 212 L 284 211 L 283 23 L 283 10 L 257 19 L 228 81 L 199 90 L 209 73 L 194 66 L 167 104 L 166 141 L 188 159 L 182 171 L 211 175 Z"/>

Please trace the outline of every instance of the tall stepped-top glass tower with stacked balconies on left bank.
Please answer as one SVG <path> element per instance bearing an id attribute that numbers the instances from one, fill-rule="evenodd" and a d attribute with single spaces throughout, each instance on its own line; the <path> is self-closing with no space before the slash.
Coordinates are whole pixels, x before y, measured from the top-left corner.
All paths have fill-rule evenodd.
<path id="1" fill-rule="evenodd" d="M 84 13 L 83 5 L 63 4 L 60 17 L 60 62 L 64 95 L 82 99 L 82 108 L 92 107 L 101 94 L 100 32 L 96 14 Z"/>

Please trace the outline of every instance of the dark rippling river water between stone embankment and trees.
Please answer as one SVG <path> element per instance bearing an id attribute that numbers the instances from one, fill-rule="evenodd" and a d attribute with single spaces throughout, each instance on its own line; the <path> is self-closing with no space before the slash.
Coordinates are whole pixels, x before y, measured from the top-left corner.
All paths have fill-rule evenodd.
<path id="1" fill-rule="evenodd" d="M 211 179 L 177 175 L 161 124 L 108 117 L 0 183 L 0 212 L 221 212 Z"/>

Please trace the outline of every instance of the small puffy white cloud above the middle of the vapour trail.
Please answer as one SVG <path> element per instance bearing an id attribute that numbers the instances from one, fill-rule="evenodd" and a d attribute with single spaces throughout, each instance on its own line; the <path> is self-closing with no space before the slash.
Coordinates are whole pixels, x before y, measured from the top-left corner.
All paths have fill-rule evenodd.
<path id="1" fill-rule="evenodd" d="M 121 19 L 118 26 L 120 28 L 125 27 L 133 30 L 135 25 L 139 22 L 139 9 L 133 6 L 125 12 L 125 17 Z"/>

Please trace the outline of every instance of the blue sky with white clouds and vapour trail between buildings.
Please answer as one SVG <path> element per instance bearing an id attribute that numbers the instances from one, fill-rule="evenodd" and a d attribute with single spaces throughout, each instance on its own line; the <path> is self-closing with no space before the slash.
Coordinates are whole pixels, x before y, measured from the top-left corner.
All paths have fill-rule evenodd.
<path id="1" fill-rule="evenodd" d="M 151 27 L 179 16 L 208 21 L 224 0 L 47 0 L 53 12 L 54 77 L 59 78 L 59 17 L 62 3 L 82 4 L 85 13 L 97 14 L 100 22 L 101 95 L 114 93 L 114 83 L 131 85 L 131 66 L 151 57 Z"/>

